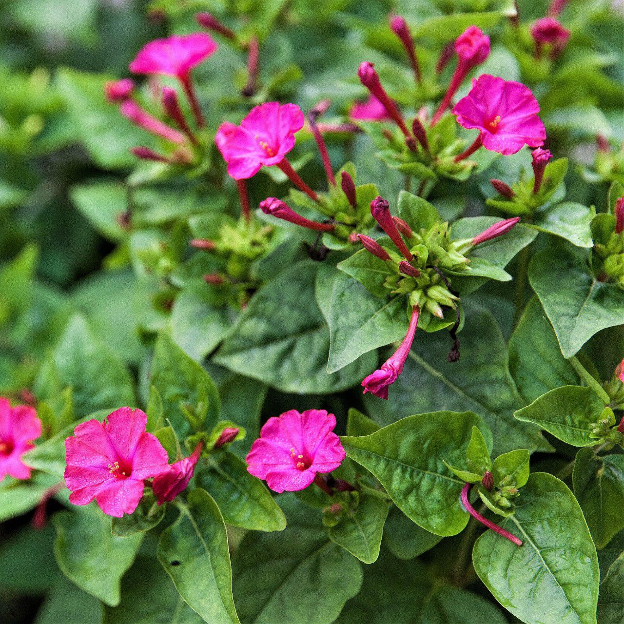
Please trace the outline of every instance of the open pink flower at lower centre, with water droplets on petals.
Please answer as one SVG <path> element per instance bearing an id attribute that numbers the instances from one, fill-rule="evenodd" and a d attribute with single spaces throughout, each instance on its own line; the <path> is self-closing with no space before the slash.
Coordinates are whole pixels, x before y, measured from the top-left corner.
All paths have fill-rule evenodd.
<path id="1" fill-rule="evenodd" d="M 324 409 L 271 417 L 251 445 L 248 472 L 266 479 L 274 492 L 303 490 L 318 472 L 335 470 L 346 457 L 334 427 L 336 417 Z"/>

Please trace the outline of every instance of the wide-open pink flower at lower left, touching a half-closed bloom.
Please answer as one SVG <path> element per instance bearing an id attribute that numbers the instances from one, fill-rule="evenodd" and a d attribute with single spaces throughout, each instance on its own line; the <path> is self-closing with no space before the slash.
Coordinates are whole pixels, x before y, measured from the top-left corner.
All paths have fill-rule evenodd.
<path id="1" fill-rule="evenodd" d="M 65 441 L 70 502 L 88 505 L 95 499 L 107 515 L 132 514 L 143 495 L 144 479 L 170 470 L 167 451 L 146 426 L 144 412 L 130 407 L 120 407 L 104 422 L 79 424 Z"/>

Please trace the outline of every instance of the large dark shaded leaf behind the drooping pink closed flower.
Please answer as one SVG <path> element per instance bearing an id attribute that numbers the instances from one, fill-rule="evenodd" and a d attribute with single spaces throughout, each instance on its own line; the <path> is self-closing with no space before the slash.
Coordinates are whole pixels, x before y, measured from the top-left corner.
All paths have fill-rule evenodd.
<path id="1" fill-rule="evenodd" d="M 452 341 L 446 333 L 417 332 L 405 368 L 390 389 L 391 400 L 366 394 L 368 413 L 376 421 L 388 424 L 398 414 L 440 408 L 474 411 L 490 427 L 496 454 L 517 448 L 547 449 L 537 427 L 519 426 L 512 416 L 523 401 L 509 374 L 507 346 L 494 316 L 473 303 L 466 303 L 465 309 L 466 324 L 459 334 L 459 361 L 447 360 Z M 463 462 L 464 458 L 459 465 Z"/>

